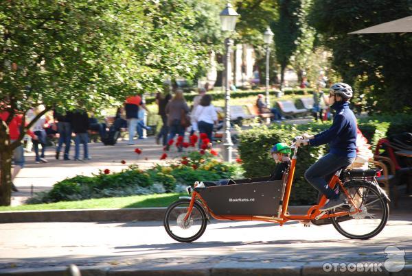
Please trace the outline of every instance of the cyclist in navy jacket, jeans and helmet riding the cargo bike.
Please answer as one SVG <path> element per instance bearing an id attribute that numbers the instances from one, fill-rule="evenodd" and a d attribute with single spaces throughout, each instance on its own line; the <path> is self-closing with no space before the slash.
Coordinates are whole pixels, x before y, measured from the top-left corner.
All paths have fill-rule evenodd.
<path id="1" fill-rule="evenodd" d="M 356 118 L 349 108 L 352 95 L 352 88 L 349 85 L 343 82 L 333 84 L 330 87 L 329 103 L 330 107 L 336 110 L 336 115 L 332 126 L 314 136 L 304 134 L 304 139 L 298 139 L 296 142 L 297 146 L 312 147 L 329 143 L 329 153 L 312 164 L 305 173 L 306 180 L 328 198 L 326 204 L 319 208 L 321 211 L 337 208 L 346 203 L 343 195 L 336 194 L 328 186 L 325 177 L 336 173 L 340 168 L 349 166 L 356 158 Z"/>

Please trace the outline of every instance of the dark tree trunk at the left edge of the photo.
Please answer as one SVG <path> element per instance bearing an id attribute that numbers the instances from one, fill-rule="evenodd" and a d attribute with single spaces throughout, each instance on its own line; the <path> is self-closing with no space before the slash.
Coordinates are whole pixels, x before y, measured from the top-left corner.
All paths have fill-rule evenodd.
<path id="1" fill-rule="evenodd" d="M 9 206 L 12 197 L 12 156 L 8 127 L 0 120 L 0 206 Z"/>

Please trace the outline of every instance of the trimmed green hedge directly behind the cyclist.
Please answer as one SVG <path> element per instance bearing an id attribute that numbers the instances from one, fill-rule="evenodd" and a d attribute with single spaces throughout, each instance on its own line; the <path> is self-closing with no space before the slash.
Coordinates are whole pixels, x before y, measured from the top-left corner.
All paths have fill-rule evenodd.
<path id="1" fill-rule="evenodd" d="M 240 158 L 243 160 L 244 175 L 259 177 L 271 174 L 275 169 L 275 162 L 270 155 L 270 150 L 277 142 L 286 142 L 304 132 L 317 134 L 330 127 L 331 122 L 312 122 L 305 125 L 273 125 L 271 127 L 259 126 L 242 131 L 239 141 Z M 358 123 L 359 129 L 369 140 L 371 145 L 376 145 L 380 138 L 412 132 L 412 115 L 398 114 L 395 116 L 379 116 L 362 118 Z M 317 190 L 312 188 L 304 179 L 304 172 L 311 164 L 328 152 L 328 146 L 301 147 L 298 152 L 295 181 L 293 182 L 290 203 L 293 205 L 312 204 L 317 201 Z"/>

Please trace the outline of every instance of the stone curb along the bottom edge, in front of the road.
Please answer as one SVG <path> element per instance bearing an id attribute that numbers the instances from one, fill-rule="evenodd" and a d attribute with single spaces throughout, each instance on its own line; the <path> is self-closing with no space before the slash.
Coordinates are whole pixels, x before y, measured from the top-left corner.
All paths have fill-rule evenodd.
<path id="1" fill-rule="evenodd" d="M 412 275 L 412 265 L 406 265 L 402 271 L 389 273 L 385 271 L 368 272 L 325 272 L 322 264 L 282 264 L 282 263 L 220 263 L 214 266 L 194 267 L 163 267 L 148 268 L 130 266 L 126 268 L 111 268 L 104 266 L 80 266 L 82 276 L 140 276 L 140 275 L 204 275 L 204 276 L 223 276 L 223 275 L 286 275 L 286 276 L 311 276 L 311 275 L 393 275 L 407 276 Z M 53 268 L 10 268 L 0 271 L 0 275 L 9 276 L 69 276 L 67 267 L 56 266 Z"/>

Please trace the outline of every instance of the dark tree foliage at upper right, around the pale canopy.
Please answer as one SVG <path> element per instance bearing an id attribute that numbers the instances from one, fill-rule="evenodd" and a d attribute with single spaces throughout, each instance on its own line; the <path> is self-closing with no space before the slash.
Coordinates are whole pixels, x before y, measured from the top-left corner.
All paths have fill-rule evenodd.
<path id="1" fill-rule="evenodd" d="M 411 110 L 411 34 L 348 34 L 409 16 L 410 0 L 314 0 L 311 25 L 333 51 L 332 65 L 376 110 Z"/>

